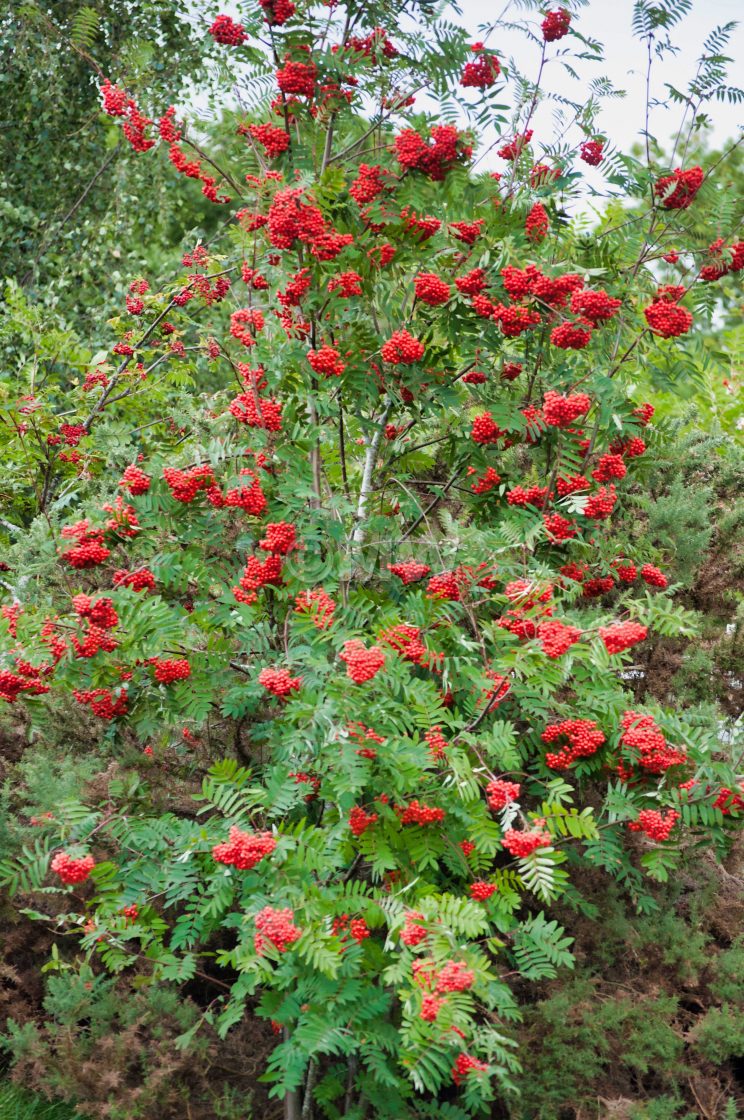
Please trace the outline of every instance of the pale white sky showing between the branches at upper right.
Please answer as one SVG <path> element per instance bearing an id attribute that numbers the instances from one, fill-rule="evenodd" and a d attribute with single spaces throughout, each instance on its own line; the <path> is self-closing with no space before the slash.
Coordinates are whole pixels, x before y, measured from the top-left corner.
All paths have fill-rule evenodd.
<path id="1" fill-rule="evenodd" d="M 463 15 L 459 18 L 453 16 L 453 21 L 463 22 L 473 32 L 475 39 L 478 26 L 493 20 L 503 9 L 505 0 L 496 0 L 495 3 L 493 0 L 492 2 L 487 2 L 487 0 L 458 0 L 458 3 Z M 552 0 L 552 2 L 548 0 L 546 3 L 546 7 L 550 8 L 559 6 L 560 0 Z M 640 139 L 639 129 L 643 127 L 645 109 L 645 44 L 633 37 L 632 16 L 633 0 L 589 0 L 587 7 L 573 19 L 573 26 L 587 38 L 598 39 L 605 48 L 604 63 L 578 63 L 575 68 L 586 81 L 606 76 L 616 88 L 625 90 L 627 93 L 624 99 L 604 101 L 598 121 L 603 132 L 621 151 L 627 151 L 632 143 Z M 519 9 L 514 8 L 513 13 L 510 11 L 506 18 L 517 21 L 522 17 Z M 664 82 L 670 82 L 678 90 L 683 91 L 695 75 L 697 58 L 708 34 L 714 27 L 734 21 L 737 18 L 744 20 L 744 0 L 694 0 L 689 15 L 670 31 L 670 38 L 679 47 L 679 53 L 676 56 L 667 55 L 661 60 L 654 58 L 652 97 L 667 100 Z M 536 17 L 532 19 L 539 34 L 539 19 Z M 536 74 L 539 47 L 526 40 L 519 32 L 497 31 L 489 39 L 489 46 L 501 57 L 515 56 L 519 59 L 520 68 L 528 76 Z M 576 49 L 577 40 L 567 37 L 554 44 L 549 52 L 555 53 L 557 48 L 565 46 L 573 46 Z M 728 67 L 728 83 L 731 85 L 744 84 L 742 82 L 744 22 L 740 22 L 740 26 L 734 30 L 726 54 L 734 59 Z M 531 68 L 530 62 L 532 62 Z M 571 81 L 559 65 L 552 64 L 546 68 L 543 84 L 575 101 L 582 100 L 582 86 Z M 505 92 L 504 100 L 508 100 L 508 87 Z M 676 134 L 682 108 L 672 104 L 670 109 L 660 106 L 653 110 L 649 131 L 663 144 L 667 144 L 669 138 Z M 727 102 L 716 101 L 708 104 L 708 112 L 715 121 L 708 133 L 713 146 L 736 138 L 738 129 L 744 123 L 744 105 L 731 105 Z M 543 109 L 542 114 L 542 116 L 536 116 L 536 141 L 539 140 L 541 120 L 545 121 L 547 134 L 549 136 L 551 132 L 551 109 Z M 501 161 L 496 160 L 493 166 L 497 165 L 500 166 Z"/>

